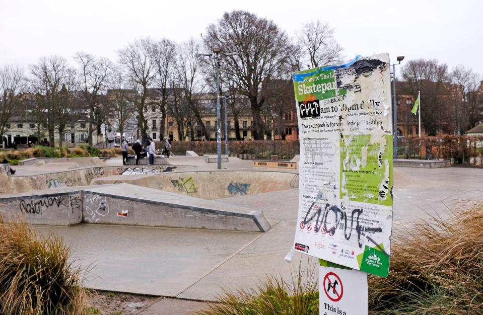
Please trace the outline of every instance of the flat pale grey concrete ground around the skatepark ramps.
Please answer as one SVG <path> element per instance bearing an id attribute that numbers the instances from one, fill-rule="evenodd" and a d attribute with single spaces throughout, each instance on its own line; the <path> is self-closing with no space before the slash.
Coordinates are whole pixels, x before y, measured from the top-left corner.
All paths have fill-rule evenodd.
<path id="1" fill-rule="evenodd" d="M 198 160 L 170 157 L 173 165 L 216 169 L 216 163 Z M 121 163 L 112 159 L 106 164 Z M 224 168 L 252 170 L 251 161 L 239 159 Z M 393 238 L 399 229 L 420 219 L 448 217 L 453 210 L 483 201 L 482 175 L 481 169 L 395 167 Z M 199 301 L 215 300 L 223 288 L 253 288 L 266 275 L 290 279 L 300 262 L 315 264 L 315 259 L 299 253 L 292 264 L 284 261 L 296 227 L 297 188 L 213 201 L 227 208 L 263 211 L 272 228 L 267 232 L 97 224 L 36 228 L 42 234 L 57 232 L 71 245 L 76 263 L 91 270 L 88 287 L 163 296 L 140 314 L 187 314 L 204 306 Z"/>

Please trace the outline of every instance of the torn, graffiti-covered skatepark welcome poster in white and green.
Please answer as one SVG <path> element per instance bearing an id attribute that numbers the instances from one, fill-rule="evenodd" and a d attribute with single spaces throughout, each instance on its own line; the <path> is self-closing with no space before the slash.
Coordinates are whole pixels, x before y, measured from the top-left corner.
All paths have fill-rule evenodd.
<path id="1" fill-rule="evenodd" d="M 294 74 L 300 196 L 294 248 L 386 277 L 392 230 L 389 55 Z"/>

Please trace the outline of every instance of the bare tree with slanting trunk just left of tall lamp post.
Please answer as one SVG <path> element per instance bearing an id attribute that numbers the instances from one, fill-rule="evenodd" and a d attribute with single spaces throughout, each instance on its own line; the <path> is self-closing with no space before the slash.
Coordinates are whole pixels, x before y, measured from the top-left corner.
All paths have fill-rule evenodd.
<path id="1" fill-rule="evenodd" d="M 176 81 L 177 86 L 183 90 L 184 100 L 196 117 L 197 123 L 200 126 L 205 138 L 209 140 L 209 133 L 208 130 L 206 130 L 206 126 L 204 125 L 201 114 L 199 113 L 197 102 L 197 96 L 203 90 L 201 79 L 199 77 L 199 49 L 199 42 L 193 38 L 181 45 L 176 65 Z M 179 102 L 178 104 L 181 105 L 183 103 Z"/>

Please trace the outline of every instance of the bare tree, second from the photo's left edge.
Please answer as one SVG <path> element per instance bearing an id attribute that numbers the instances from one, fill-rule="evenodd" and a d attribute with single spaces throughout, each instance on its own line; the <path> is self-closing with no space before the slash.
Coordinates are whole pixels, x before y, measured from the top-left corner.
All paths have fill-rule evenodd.
<path id="1" fill-rule="evenodd" d="M 63 132 L 62 124 L 68 114 L 74 70 L 59 56 L 42 57 L 30 70 L 37 106 L 45 113 L 50 145 L 54 146 L 55 128 Z M 61 139 L 62 136 L 60 142 Z"/>

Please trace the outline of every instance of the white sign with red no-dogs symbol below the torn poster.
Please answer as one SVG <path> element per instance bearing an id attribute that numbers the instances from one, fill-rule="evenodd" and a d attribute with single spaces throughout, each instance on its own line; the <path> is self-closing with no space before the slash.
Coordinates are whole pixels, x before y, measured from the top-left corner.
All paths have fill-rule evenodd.
<path id="1" fill-rule="evenodd" d="M 342 268 L 320 266 L 320 314 L 367 315 L 367 273 Z"/>

